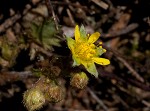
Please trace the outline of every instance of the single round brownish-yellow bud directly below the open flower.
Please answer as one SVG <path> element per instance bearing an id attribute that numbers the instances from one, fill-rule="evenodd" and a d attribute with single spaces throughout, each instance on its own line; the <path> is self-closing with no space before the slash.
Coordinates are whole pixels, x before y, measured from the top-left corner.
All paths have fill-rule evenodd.
<path id="1" fill-rule="evenodd" d="M 76 73 L 70 81 L 70 85 L 78 89 L 83 89 L 87 86 L 89 78 L 84 72 Z"/>

